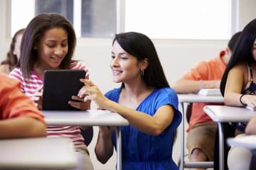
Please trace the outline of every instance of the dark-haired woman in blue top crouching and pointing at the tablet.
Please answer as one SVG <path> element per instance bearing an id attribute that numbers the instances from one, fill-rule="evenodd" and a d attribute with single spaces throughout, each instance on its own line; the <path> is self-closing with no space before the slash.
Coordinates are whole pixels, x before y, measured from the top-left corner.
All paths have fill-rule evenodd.
<path id="1" fill-rule="evenodd" d="M 78 96 L 129 121 L 122 127 L 122 169 L 178 169 L 172 159 L 176 128 L 181 123 L 176 92 L 170 88 L 153 42 L 142 33 L 117 34 L 110 68 L 119 89 L 102 92 L 87 79 Z M 100 127 L 95 154 L 103 164 L 116 146 L 114 128 Z"/>

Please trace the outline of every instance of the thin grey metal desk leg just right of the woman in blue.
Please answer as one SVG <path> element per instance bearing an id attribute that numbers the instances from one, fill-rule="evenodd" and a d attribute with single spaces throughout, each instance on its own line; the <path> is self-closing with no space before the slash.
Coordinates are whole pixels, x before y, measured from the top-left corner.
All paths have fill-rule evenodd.
<path id="1" fill-rule="evenodd" d="M 181 161 L 180 161 L 180 169 L 184 169 L 184 114 L 185 114 L 185 108 L 184 103 L 181 102 L 182 107 L 182 119 L 181 119 Z"/>

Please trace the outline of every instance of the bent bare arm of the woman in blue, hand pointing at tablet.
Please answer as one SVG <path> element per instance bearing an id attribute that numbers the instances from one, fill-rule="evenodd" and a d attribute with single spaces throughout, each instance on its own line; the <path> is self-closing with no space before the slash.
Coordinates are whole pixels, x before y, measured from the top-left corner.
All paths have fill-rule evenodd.
<path id="1" fill-rule="evenodd" d="M 151 116 L 110 101 L 90 80 L 81 79 L 81 81 L 87 85 L 80 89 L 78 96 L 81 98 L 85 97 L 85 101 L 95 101 L 99 108 L 119 113 L 119 115 L 122 115 L 122 117 L 129 121 L 130 125 L 146 134 L 161 134 L 161 132 L 171 124 L 174 118 L 174 108 L 172 108 L 172 106 L 161 106 L 156 113 Z M 87 94 L 89 94 L 88 91 L 92 91 L 92 95 L 87 96 Z"/>

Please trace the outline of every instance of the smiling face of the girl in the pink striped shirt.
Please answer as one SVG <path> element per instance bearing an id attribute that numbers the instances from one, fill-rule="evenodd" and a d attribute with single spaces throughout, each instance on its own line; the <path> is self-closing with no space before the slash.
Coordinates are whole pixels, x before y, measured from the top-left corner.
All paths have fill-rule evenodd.
<path id="1" fill-rule="evenodd" d="M 50 28 L 36 45 L 38 51 L 37 67 L 58 69 L 68 53 L 68 33 L 63 28 Z"/>

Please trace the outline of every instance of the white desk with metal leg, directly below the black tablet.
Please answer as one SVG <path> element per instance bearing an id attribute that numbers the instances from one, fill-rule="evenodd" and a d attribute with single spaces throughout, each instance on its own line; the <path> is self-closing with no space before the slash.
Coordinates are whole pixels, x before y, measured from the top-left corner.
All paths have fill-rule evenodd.
<path id="1" fill-rule="evenodd" d="M 102 110 L 42 111 L 47 125 L 115 126 L 117 134 L 117 169 L 122 169 L 122 136 L 120 126 L 129 125 L 118 113 Z"/>

